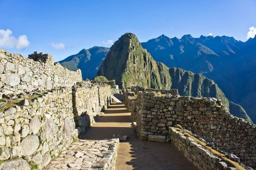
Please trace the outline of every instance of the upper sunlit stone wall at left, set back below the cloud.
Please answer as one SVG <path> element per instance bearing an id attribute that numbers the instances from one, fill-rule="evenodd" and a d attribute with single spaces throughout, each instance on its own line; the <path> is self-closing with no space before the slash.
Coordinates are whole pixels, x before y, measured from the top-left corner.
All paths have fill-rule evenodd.
<path id="1" fill-rule="evenodd" d="M 71 87 L 82 81 L 81 70 L 70 71 L 53 63 L 53 56 L 39 53 L 31 59 L 0 50 L 0 99 L 5 94 Z"/>

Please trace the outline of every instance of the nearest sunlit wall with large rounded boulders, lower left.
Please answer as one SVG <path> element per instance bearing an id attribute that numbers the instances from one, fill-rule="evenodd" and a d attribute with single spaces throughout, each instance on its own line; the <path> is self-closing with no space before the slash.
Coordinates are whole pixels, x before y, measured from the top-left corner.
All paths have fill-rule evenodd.
<path id="1" fill-rule="evenodd" d="M 0 112 L 0 160 L 21 157 L 42 169 L 77 135 L 71 89 L 8 102 Z"/>

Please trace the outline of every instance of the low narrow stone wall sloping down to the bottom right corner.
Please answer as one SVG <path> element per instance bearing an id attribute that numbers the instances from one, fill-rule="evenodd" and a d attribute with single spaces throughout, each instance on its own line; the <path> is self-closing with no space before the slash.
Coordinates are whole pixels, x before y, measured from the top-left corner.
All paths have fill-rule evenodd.
<path id="1" fill-rule="evenodd" d="M 238 162 L 229 159 L 225 154 L 206 146 L 188 131 L 169 127 L 169 136 L 171 143 L 199 170 L 245 170 L 238 164 L 238 158 L 235 157 Z"/>

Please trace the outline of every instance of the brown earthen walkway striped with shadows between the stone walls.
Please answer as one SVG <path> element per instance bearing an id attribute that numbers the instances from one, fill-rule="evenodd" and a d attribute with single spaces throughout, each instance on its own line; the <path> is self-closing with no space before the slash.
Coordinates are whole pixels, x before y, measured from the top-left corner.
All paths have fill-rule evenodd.
<path id="1" fill-rule="evenodd" d="M 123 103 L 114 103 L 98 117 L 96 123 L 82 136 L 82 139 L 110 139 L 113 135 L 128 135 L 120 141 L 116 170 L 196 170 L 172 144 L 142 141 L 129 119 L 130 113 Z"/>

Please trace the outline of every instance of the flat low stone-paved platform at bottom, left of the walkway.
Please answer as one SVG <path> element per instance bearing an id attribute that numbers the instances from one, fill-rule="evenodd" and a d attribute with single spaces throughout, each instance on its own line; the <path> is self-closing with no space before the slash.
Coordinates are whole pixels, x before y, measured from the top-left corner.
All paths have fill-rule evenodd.
<path id="1" fill-rule="evenodd" d="M 119 139 L 77 140 L 45 170 L 114 170 Z M 68 160 L 67 158 L 68 157 Z"/>

